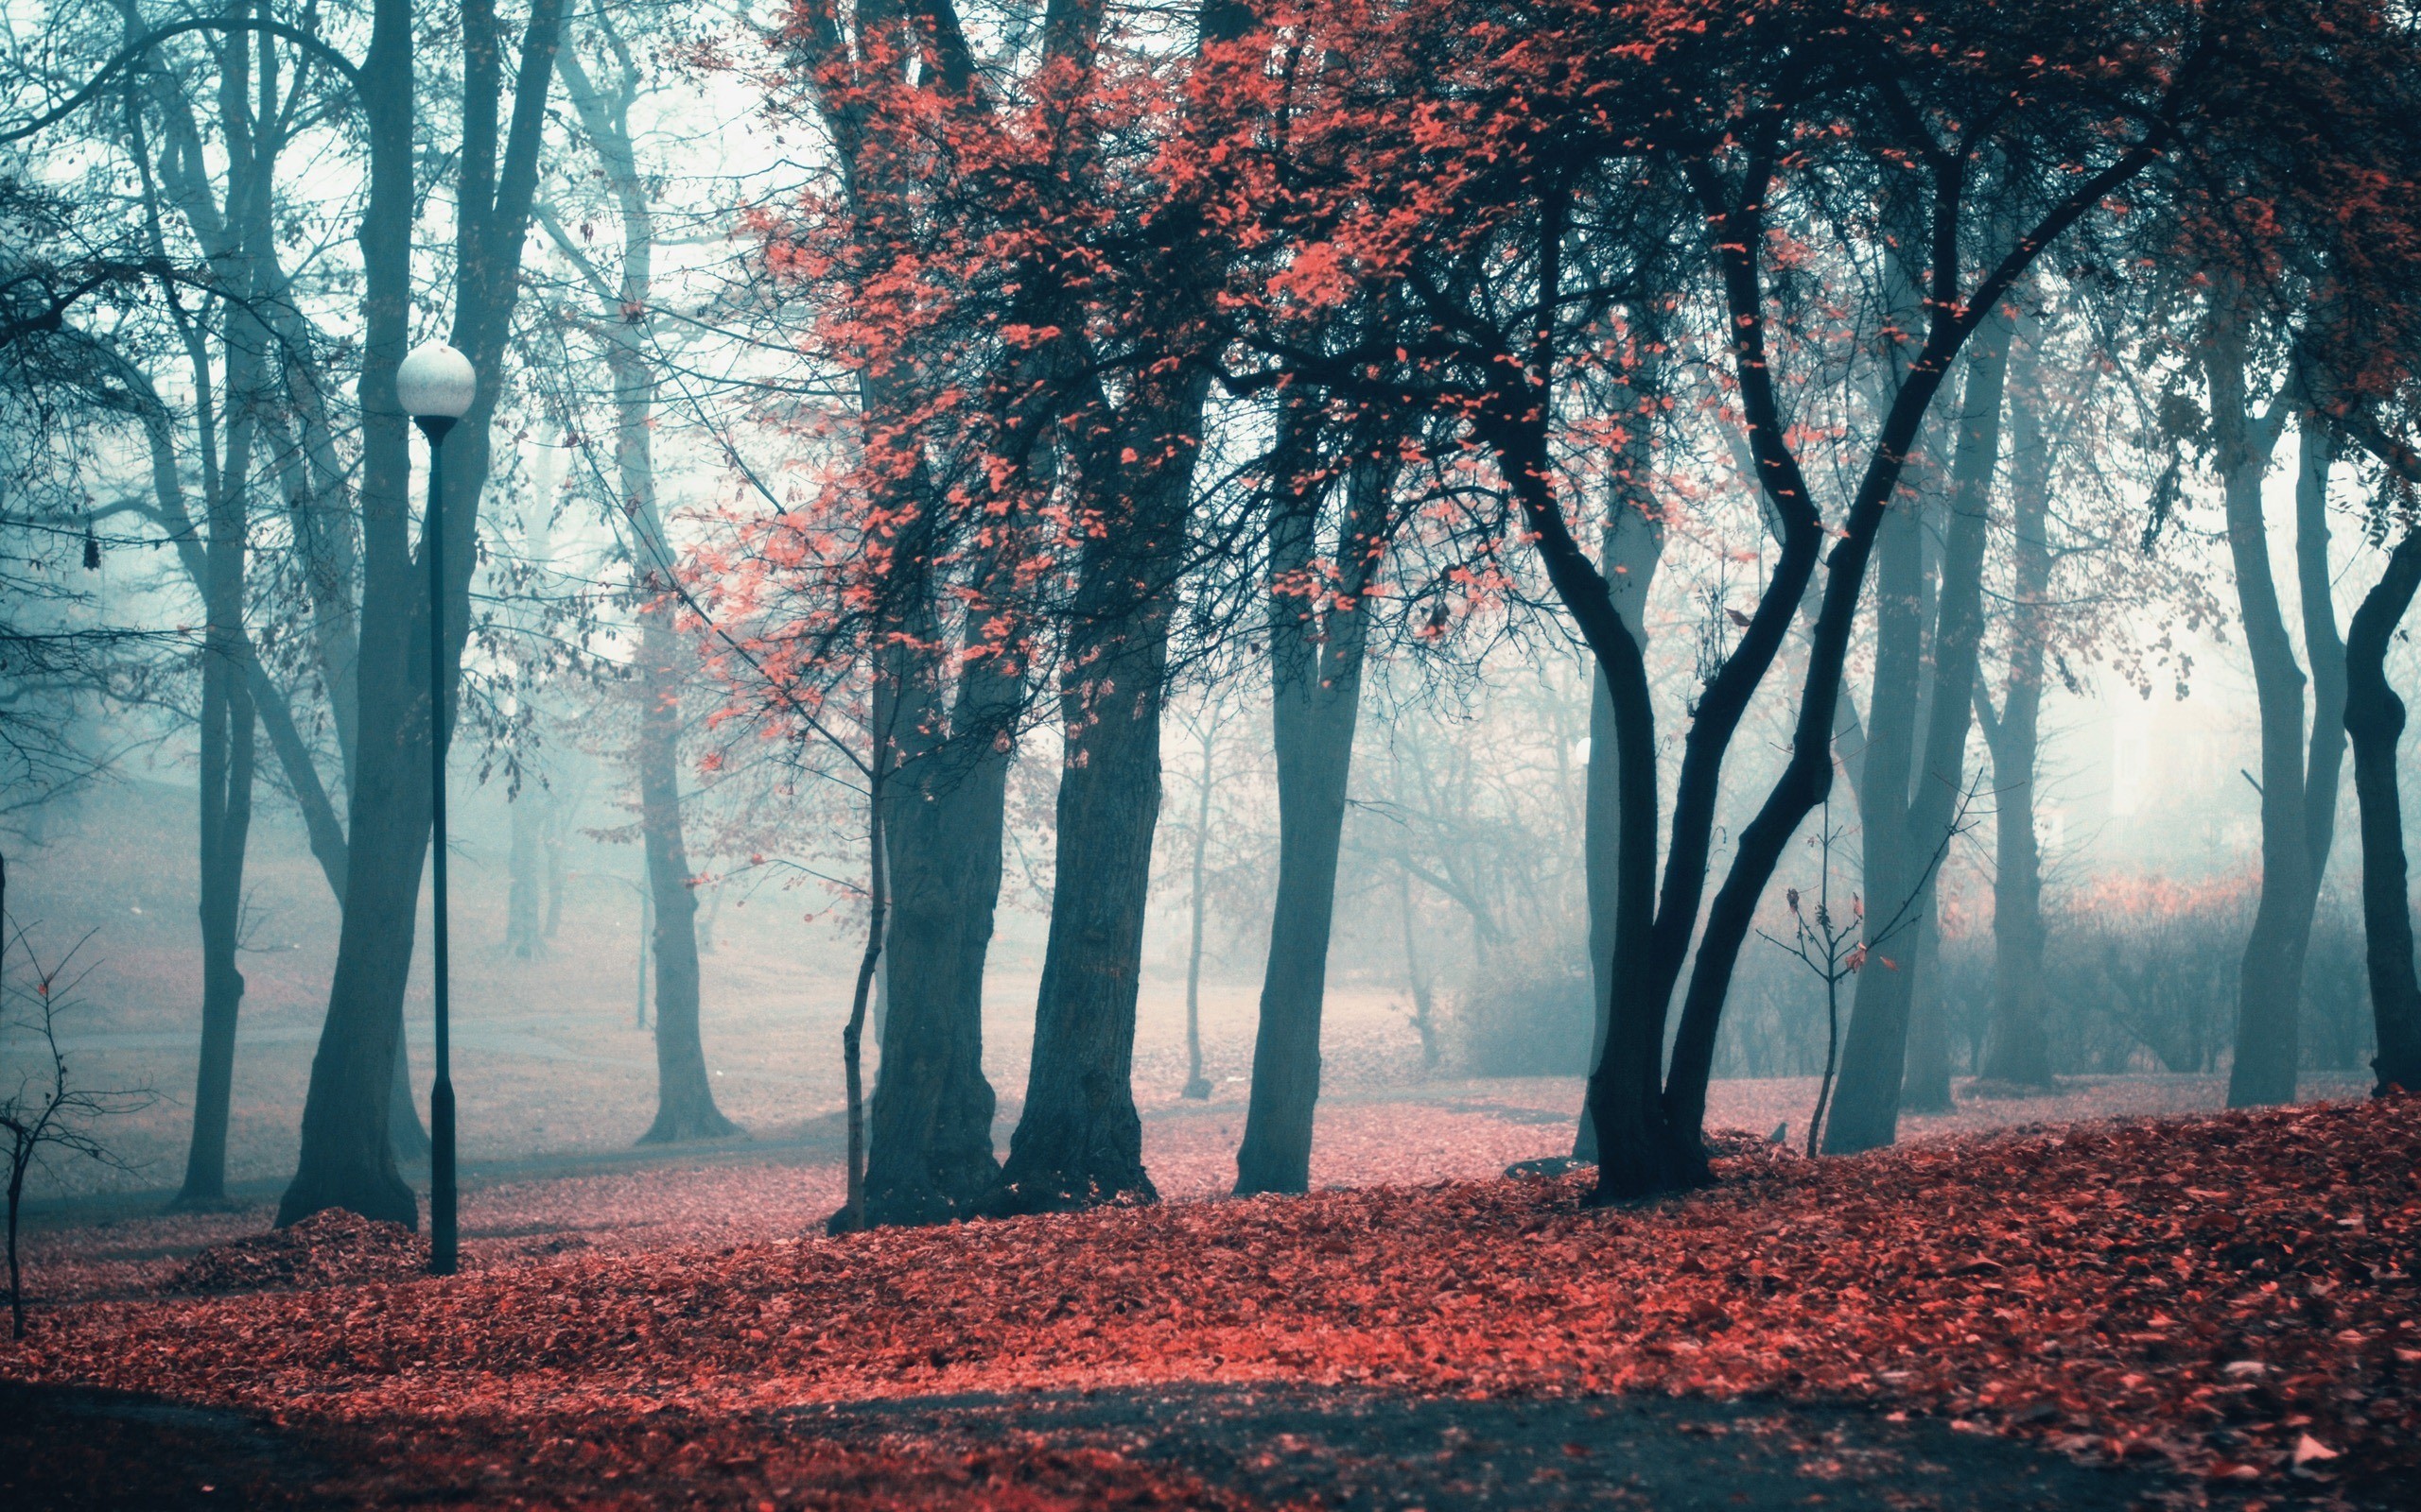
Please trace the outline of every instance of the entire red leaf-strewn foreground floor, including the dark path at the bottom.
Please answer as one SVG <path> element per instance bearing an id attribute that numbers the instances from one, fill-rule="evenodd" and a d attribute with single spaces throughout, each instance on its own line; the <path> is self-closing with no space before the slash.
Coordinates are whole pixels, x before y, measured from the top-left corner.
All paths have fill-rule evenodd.
<path id="1" fill-rule="evenodd" d="M 760 1152 L 484 1185 L 455 1280 L 344 1219 L 53 1248 L 0 1502 L 2409 1505 L 2421 1101 L 1726 1152 L 847 1239 Z"/>

